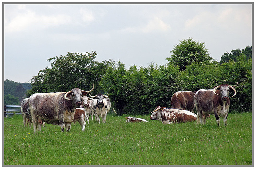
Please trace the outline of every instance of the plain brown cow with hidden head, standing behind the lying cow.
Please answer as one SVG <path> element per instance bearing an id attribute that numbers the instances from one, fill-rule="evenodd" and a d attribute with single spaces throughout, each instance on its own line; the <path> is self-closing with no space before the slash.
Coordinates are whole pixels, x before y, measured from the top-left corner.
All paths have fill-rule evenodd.
<path id="1" fill-rule="evenodd" d="M 178 91 L 172 95 L 171 106 L 174 109 L 194 112 L 194 92 Z"/>

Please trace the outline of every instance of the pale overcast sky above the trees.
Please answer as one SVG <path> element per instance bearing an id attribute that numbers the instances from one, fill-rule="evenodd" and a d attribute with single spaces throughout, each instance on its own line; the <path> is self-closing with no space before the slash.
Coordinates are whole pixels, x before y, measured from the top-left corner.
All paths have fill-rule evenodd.
<path id="1" fill-rule="evenodd" d="M 4 80 L 30 82 L 67 52 L 126 68 L 166 64 L 188 38 L 218 62 L 252 45 L 252 4 L 4 4 Z"/>

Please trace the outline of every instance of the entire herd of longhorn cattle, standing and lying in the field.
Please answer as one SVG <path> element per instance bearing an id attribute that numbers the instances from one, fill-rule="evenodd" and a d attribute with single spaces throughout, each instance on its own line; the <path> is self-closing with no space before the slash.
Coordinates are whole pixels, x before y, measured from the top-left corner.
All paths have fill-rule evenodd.
<path id="1" fill-rule="evenodd" d="M 105 123 L 106 115 L 111 108 L 110 99 L 101 93 L 91 96 L 90 92 L 93 89 L 94 85 L 89 91 L 75 88 L 68 92 L 34 93 L 21 103 L 24 126 L 26 123 L 30 123 L 31 126 L 32 123 L 36 132 L 41 131 L 42 125 L 49 123 L 59 125 L 61 131 L 64 131 L 65 127 L 66 131 L 70 131 L 71 123 L 78 122 L 84 131 L 86 121 L 89 124 L 89 118 L 93 120 L 93 116 L 98 123 L 100 123 L 100 117 L 102 123 Z M 158 106 L 151 112 L 150 119 L 160 120 L 163 124 L 187 121 L 205 124 L 206 118 L 214 114 L 217 124 L 220 125 L 220 117 L 223 117 L 226 126 L 230 107 L 228 97 L 230 89 L 234 90 L 236 95 L 236 89 L 228 84 L 194 92 L 178 91 L 172 95 L 172 108 Z M 88 93 L 90 97 L 86 96 Z M 194 113 L 194 107 L 197 114 Z M 141 121 L 148 122 L 141 118 L 126 117 L 126 122 Z"/>

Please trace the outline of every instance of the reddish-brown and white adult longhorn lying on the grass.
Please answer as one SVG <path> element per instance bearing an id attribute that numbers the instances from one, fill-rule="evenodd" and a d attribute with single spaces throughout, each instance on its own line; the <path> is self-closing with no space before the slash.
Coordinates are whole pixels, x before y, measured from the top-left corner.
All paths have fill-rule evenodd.
<path id="1" fill-rule="evenodd" d="M 151 120 L 160 120 L 163 124 L 196 121 L 196 114 L 188 110 L 166 109 L 158 106 L 151 113 L 149 117 Z"/>

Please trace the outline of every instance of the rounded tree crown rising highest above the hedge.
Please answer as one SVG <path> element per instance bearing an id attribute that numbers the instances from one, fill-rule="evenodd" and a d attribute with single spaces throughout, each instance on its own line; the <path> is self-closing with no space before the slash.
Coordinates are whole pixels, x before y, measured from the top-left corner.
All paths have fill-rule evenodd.
<path id="1" fill-rule="evenodd" d="M 205 48 L 203 42 L 196 42 L 193 38 L 180 41 L 180 44 L 174 46 L 174 49 L 170 51 L 172 56 L 166 58 L 172 64 L 178 66 L 180 70 L 185 70 L 186 66 L 196 63 L 210 63 L 213 58 L 210 57 L 208 49 Z"/>

